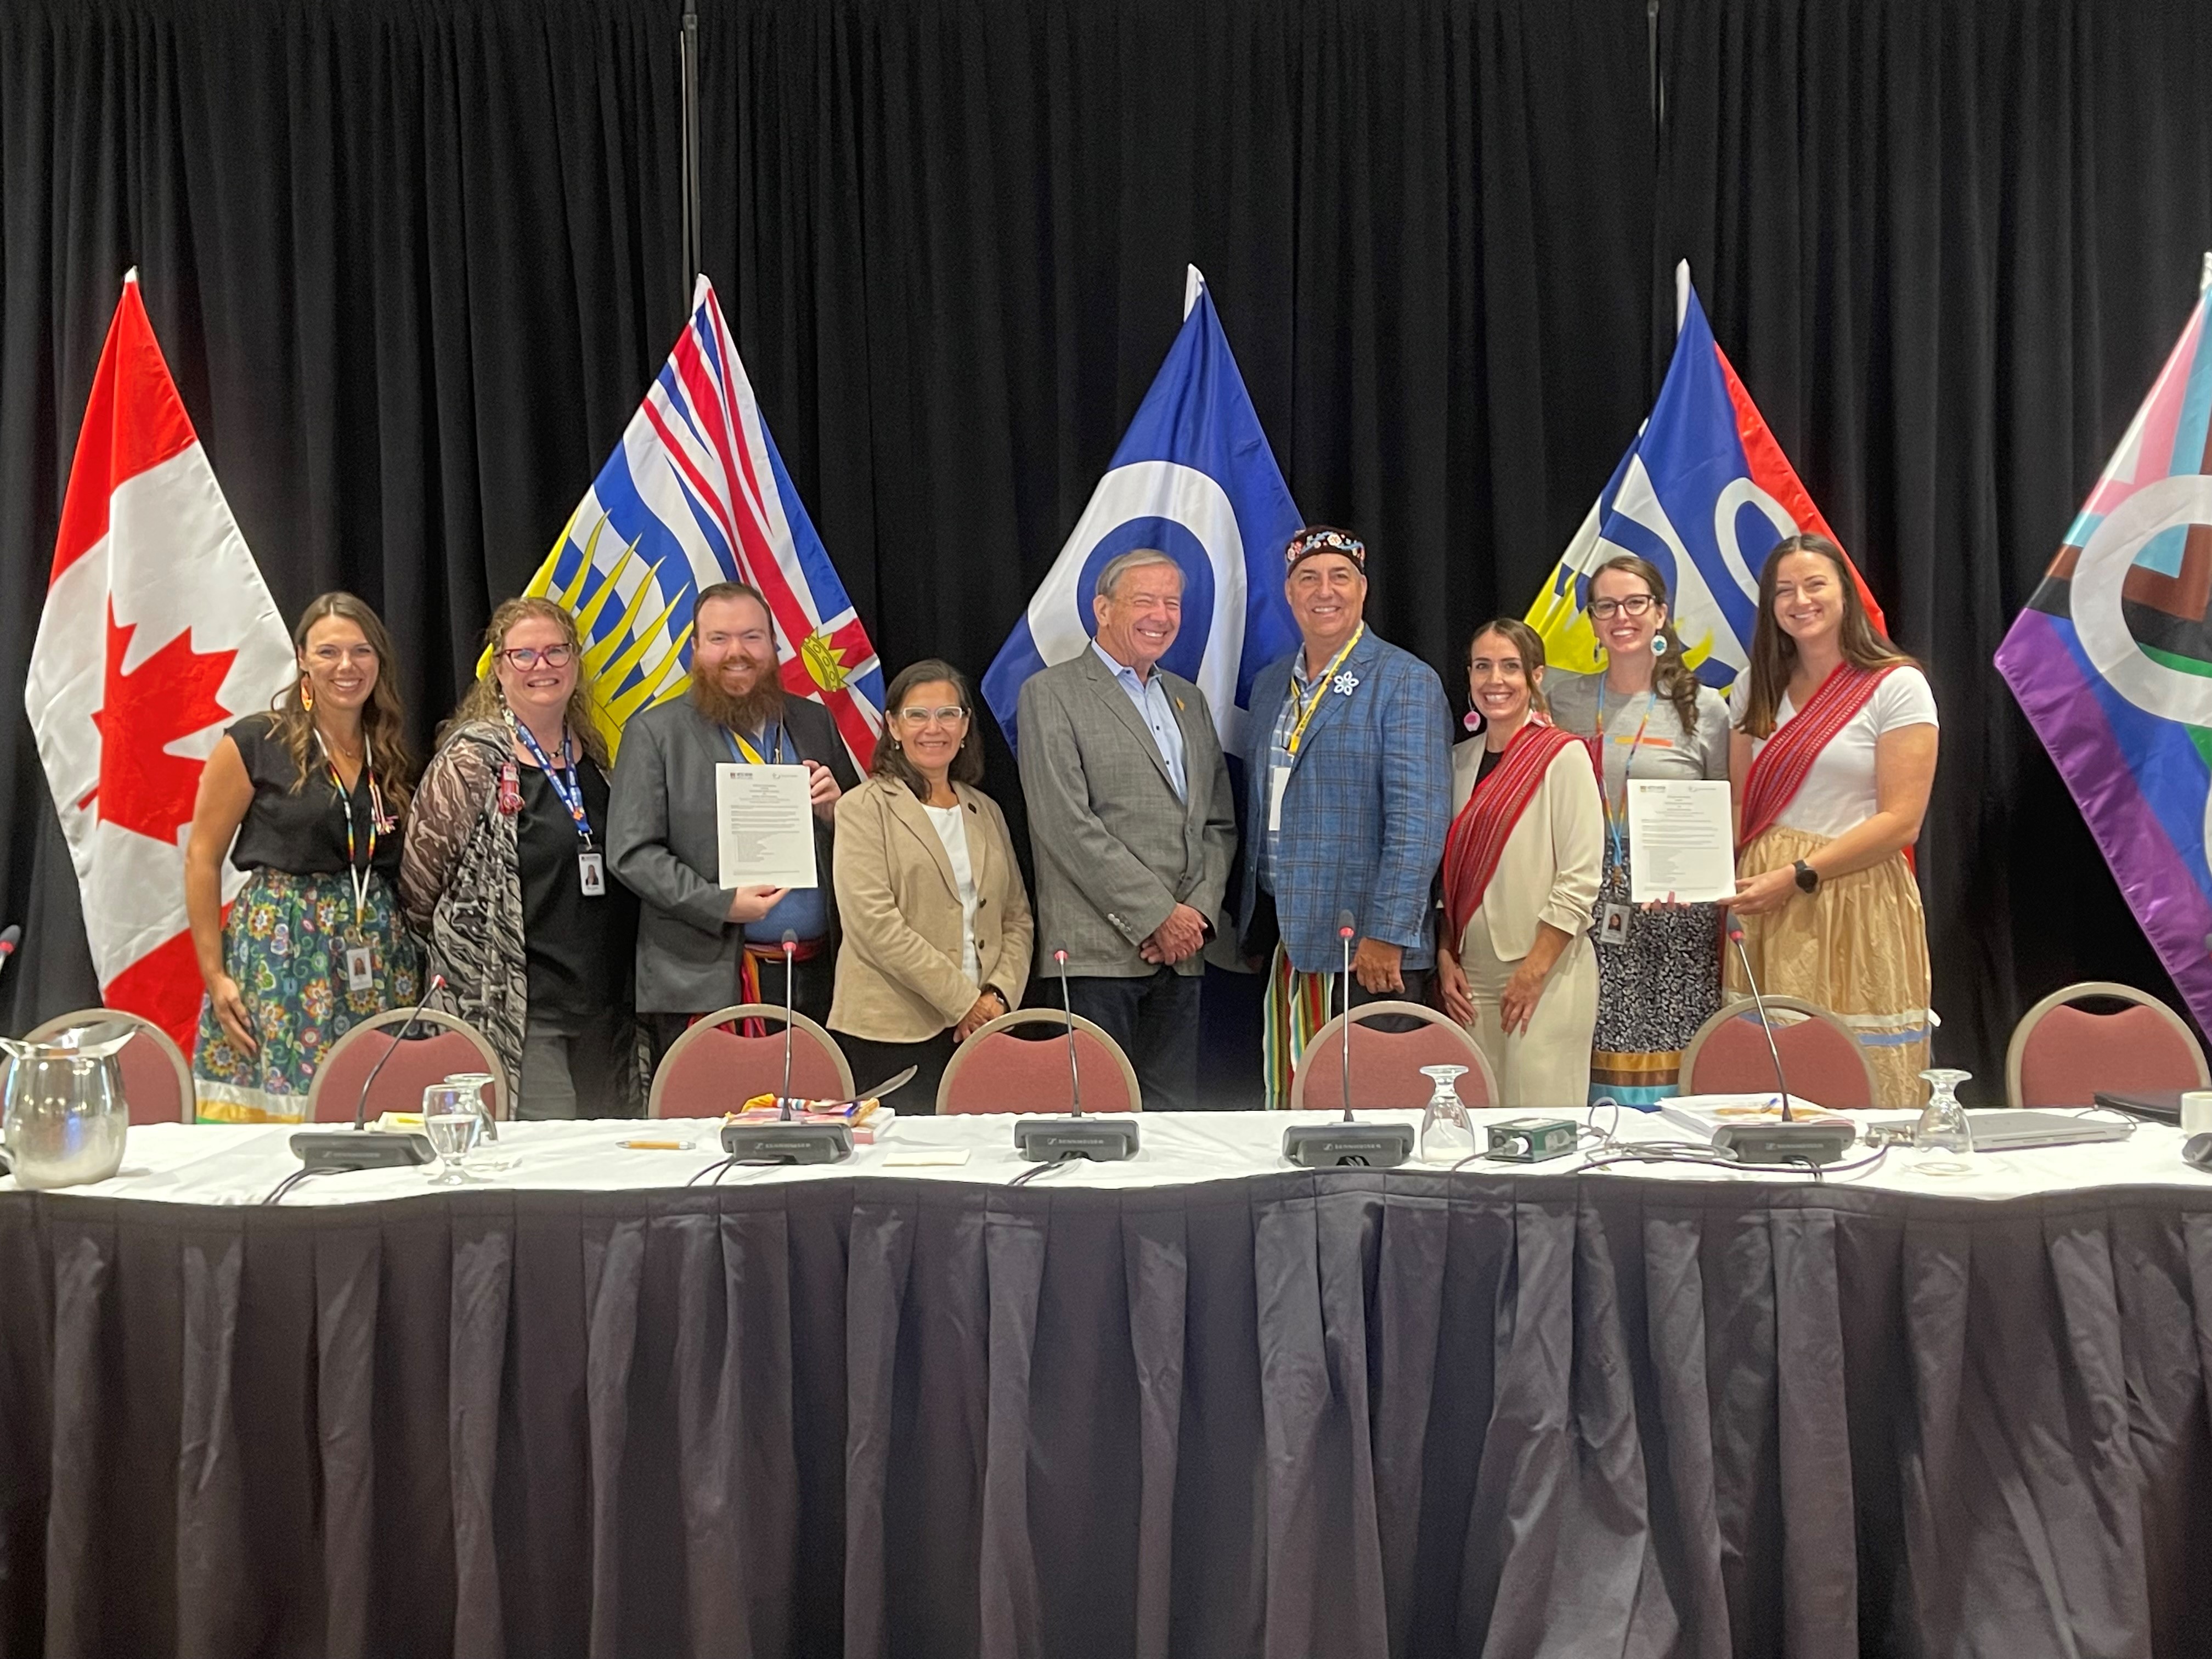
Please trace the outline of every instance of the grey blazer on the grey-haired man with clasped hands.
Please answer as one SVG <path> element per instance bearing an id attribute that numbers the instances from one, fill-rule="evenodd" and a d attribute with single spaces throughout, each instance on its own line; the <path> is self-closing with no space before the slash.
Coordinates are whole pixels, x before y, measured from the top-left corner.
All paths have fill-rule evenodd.
<path id="1" fill-rule="evenodd" d="M 1022 796 L 1037 865 L 1037 971 L 1055 949 L 1068 973 L 1152 973 L 1137 947 L 1181 902 L 1219 931 L 1237 852 L 1230 770 L 1206 692 L 1155 668 L 1183 732 L 1188 801 L 1128 692 L 1084 646 L 1022 686 Z M 1206 953 L 1177 973 L 1203 973 Z"/>

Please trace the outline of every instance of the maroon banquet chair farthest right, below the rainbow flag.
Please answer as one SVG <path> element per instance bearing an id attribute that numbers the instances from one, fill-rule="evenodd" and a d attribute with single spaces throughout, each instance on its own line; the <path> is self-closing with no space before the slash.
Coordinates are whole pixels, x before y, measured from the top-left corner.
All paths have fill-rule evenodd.
<path id="1" fill-rule="evenodd" d="M 2090 1013 L 2077 1002 L 2124 1002 L 2112 1013 Z M 2090 1106 L 2097 1091 L 2157 1095 L 2212 1088 L 2203 1044 L 2179 1013 L 2148 991 L 2110 980 L 2081 980 L 2053 991 L 2004 1046 L 2004 1102 L 2008 1106 Z"/>

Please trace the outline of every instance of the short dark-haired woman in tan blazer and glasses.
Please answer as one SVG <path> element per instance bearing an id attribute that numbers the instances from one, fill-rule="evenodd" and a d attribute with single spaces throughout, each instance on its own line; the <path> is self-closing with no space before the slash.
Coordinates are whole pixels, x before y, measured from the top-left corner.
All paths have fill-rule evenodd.
<path id="1" fill-rule="evenodd" d="M 891 681 L 867 781 L 836 803 L 830 1029 L 863 1088 L 918 1066 L 898 1110 L 929 1113 L 953 1048 L 1022 1000 L 1029 894 L 982 781 L 975 699 L 949 664 Z"/>

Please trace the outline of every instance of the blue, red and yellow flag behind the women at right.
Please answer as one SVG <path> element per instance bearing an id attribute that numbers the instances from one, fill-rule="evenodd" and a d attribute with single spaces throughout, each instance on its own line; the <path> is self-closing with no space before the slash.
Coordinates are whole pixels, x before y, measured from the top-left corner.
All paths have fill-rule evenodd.
<path id="1" fill-rule="evenodd" d="M 1674 290 L 1674 358 L 1659 400 L 1528 608 L 1528 626 L 1544 637 L 1553 668 L 1597 668 L 1604 655 L 1584 615 L 1590 573 L 1639 553 L 1674 595 L 1683 657 L 1708 686 L 1728 688 L 1752 659 L 1767 551 L 1798 531 L 1836 535 L 1712 338 L 1688 263 L 1677 268 Z M 1867 584 L 1856 571 L 1851 580 L 1882 628 Z"/>

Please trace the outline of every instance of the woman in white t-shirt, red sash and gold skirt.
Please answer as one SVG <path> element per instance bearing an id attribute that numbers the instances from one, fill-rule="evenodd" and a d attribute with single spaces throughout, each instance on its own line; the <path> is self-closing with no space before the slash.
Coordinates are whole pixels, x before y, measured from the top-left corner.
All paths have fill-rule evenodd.
<path id="1" fill-rule="evenodd" d="M 1730 909 L 1759 989 L 1838 1013 L 1874 1066 L 1876 1104 L 1911 1106 L 1929 1064 L 1929 942 L 1909 849 L 1936 781 L 1936 697 L 1876 633 L 1825 535 L 1767 555 L 1730 717 Z M 1723 962 L 1747 993 L 1734 953 Z"/>

